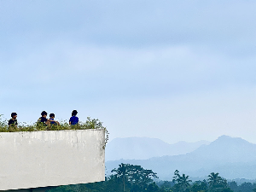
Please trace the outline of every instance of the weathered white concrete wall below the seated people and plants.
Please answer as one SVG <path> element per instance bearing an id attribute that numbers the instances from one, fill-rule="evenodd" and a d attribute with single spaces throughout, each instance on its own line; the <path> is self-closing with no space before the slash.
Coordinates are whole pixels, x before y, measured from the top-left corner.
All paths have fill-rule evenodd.
<path id="1" fill-rule="evenodd" d="M 103 130 L 0 132 L 0 190 L 105 179 Z"/>

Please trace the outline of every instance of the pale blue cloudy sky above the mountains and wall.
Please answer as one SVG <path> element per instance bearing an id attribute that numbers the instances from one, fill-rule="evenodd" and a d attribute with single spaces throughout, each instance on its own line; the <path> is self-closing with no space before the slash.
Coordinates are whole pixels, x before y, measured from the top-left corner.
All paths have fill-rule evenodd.
<path id="1" fill-rule="evenodd" d="M 115 137 L 256 143 L 256 2 L 0 0 L 0 113 Z"/>

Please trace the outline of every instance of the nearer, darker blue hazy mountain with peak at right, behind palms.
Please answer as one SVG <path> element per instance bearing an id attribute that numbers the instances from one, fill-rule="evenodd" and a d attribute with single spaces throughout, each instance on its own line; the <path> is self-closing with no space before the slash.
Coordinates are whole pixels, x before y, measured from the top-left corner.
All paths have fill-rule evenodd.
<path id="1" fill-rule="evenodd" d="M 256 178 L 256 144 L 241 138 L 218 137 L 189 154 L 166 155 L 148 160 L 107 161 L 108 173 L 120 163 L 140 165 L 158 173 L 161 179 L 172 179 L 177 169 L 191 177 L 205 177 L 210 172 L 219 172 L 226 178 Z"/>

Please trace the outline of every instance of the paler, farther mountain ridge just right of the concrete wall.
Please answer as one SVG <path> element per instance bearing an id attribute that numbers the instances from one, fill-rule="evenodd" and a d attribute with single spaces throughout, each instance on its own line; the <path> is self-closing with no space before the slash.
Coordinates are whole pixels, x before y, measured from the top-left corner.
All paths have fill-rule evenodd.
<path id="1" fill-rule="evenodd" d="M 164 155 L 187 154 L 201 145 L 209 143 L 200 141 L 196 143 L 178 142 L 169 144 L 157 138 L 115 138 L 107 145 L 106 160 L 147 160 Z"/>

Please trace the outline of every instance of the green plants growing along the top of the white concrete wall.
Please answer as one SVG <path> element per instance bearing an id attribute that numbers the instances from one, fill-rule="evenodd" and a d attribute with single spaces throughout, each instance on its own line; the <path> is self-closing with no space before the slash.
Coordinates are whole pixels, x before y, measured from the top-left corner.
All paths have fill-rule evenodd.
<path id="1" fill-rule="evenodd" d="M 0 132 L 16 132 L 16 131 L 61 131 L 61 130 L 88 130 L 88 129 L 102 129 L 105 131 L 105 145 L 103 148 L 106 148 L 108 143 L 108 130 L 105 126 L 102 125 L 102 122 L 99 119 L 90 119 L 87 117 L 85 122 L 79 121 L 78 125 L 69 125 L 67 120 L 61 121 L 60 125 L 50 125 L 45 126 L 43 124 L 38 124 L 38 122 L 32 124 L 26 124 L 26 122 L 18 123 L 18 126 L 8 125 L 8 120 L 2 119 L 3 115 L 0 114 Z"/>

